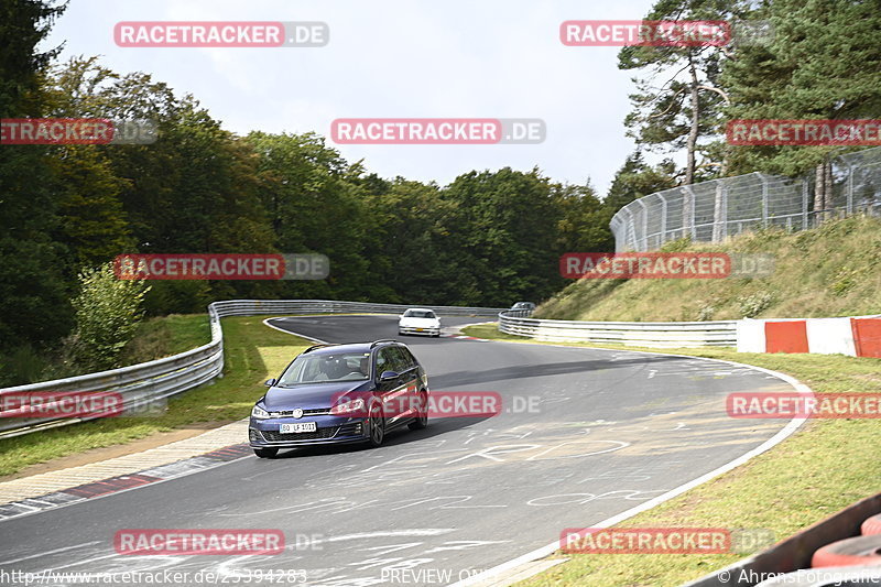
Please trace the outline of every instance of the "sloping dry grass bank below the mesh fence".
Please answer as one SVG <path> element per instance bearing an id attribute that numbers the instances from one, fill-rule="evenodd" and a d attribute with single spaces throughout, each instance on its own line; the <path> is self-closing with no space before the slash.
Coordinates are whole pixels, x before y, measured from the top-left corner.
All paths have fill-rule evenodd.
<path id="1" fill-rule="evenodd" d="M 721 244 L 662 250 L 770 253 L 762 279 L 579 280 L 542 304 L 541 318 L 706 320 L 855 316 L 881 312 L 881 218 L 855 216 L 788 233 L 750 232 Z M 755 312 L 758 309 L 758 312 Z"/>

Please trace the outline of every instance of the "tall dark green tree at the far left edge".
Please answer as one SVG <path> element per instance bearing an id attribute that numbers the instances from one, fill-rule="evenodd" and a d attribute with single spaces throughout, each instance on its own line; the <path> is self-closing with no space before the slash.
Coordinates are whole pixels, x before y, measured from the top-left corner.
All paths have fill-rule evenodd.
<path id="1" fill-rule="evenodd" d="M 39 118 L 45 111 L 42 72 L 58 48 L 37 52 L 64 4 L 36 0 L 0 3 L 0 118 Z M 63 279 L 64 248 L 53 241 L 57 198 L 42 145 L 0 148 L 0 351 L 45 345 L 72 324 Z"/>

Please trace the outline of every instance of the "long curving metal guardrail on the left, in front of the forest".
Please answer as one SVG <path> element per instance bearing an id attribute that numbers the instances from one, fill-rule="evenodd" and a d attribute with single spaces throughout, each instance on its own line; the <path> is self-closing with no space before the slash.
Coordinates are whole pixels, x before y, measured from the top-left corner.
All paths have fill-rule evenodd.
<path id="1" fill-rule="evenodd" d="M 224 372 L 224 331 L 220 318 L 227 316 L 254 316 L 261 314 L 399 314 L 409 307 L 401 304 L 368 304 L 335 300 L 229 300 L 208 306 L 211 341 L 193 350 L 164 359 L 30 385 L 0 389 L 0 410 L 15 404 L 6 399 L 32 392 L 113 392 L 123 399 L 127 412 L 153 405 L 171 395 L 206 383 Z M 496 316 L 502 308 L 465 306 L 421 306 L 434 309 L 442 316 Z M 59 395 L 61 396 L 61 395 Z M 89 420 L 88 417 L 4 417 L 0 411 L 0 438 L 19 436 L 41 430 L 64 426 Z M 98 417 L 98 416 L 95 416 Z"/>

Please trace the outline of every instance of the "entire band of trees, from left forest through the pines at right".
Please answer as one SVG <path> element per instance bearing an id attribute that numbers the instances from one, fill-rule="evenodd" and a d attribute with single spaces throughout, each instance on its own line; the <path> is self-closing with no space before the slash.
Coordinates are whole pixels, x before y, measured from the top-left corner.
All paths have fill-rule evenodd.
<path id="1" fill-rule="evenodd" d="M 562 252 L 611 250 L 611 216 L 653 192 L 815 169 L 824 181 L 814 208 L 826 205 L 840 148 L 733 148 L 728 120 L 881 112 L 877 0 L 656 0 L 646 20 L 735 22 L 735 41 L 619 52 L 619 68 L 637 80 L 624 120 L 637 151 L 605 197 L 537 169 L 474 171 L 439 186 L 379 177 L 314 133 L 236 135 L 149 74 L 111 72 L 94 57 L 59 64 L 57 51 L 35 47 L 62 10 L 50 0 L 0 4 L 0 116 L 145 118 L 160 135 L 150 145 L 0 148 L 0 365 L 75 331 L 77 274 L 119 253 L 330 259 L 319 282 L 152 282 L 153 315 L 231 297 L 540 302 L 565 285 Z M 683 163 L 649 164 L 649 153 Z"/>

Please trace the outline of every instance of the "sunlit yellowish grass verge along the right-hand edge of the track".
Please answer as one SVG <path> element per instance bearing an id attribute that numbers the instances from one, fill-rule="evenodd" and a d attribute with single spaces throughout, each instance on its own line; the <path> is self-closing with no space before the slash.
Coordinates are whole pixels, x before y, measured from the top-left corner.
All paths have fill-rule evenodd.
<path id="1" fill-rule="evenodd" d="M 494 328 L 494 325 L 477 325 L 463 330 L 469 336 L 500 338 L 493 336 L 498 331 Z M 502 336 L 507 338 L 510 335 Z M 587 344 L 566 346 L 598 347 Z M 626 349 L 657 352 L 657 349 Z M 732 349 L 670 349 L 668 352 L 764 367 L 791 374 L 818 393 L 881 393 L 881 361 L 878 359 L 840 355 L 739 354 Z M 620 525 L 768 529 L 782 540 L 881 490 L 879 435 L 879 420 L 808 421 L 768 453 Z M 585 525 L 589 522 L 586 520 Z M 743 555 L 567 556 L 572 557 L 569 562 L 518 585 L 676 586 L 733 563 Z"/>

